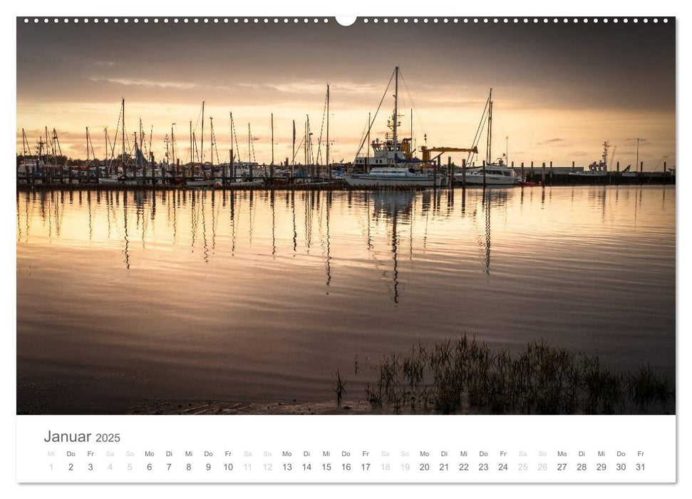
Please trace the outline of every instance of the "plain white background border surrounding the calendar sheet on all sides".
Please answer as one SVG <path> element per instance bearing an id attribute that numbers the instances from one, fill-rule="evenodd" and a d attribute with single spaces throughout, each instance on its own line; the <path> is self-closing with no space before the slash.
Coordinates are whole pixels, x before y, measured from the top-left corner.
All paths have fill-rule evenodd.
<path id="1" fill-rule="evenodd" d="M 304 0 L 300 4 L 291 4 L 290 9 L 286 7 L 287 4 L 279 2 L 278 0 L 269 0 L 264 4 L 259 2 L 252 2 L 247 4 L 234 3 L 232 5 L 227 4 L 219 0 L 212 0 L 207 2 L 205 5 L 196 5 L 195 9 L 205 9 L 207 12 L 190 11 L 185 4 L 170 4 L 170 2 L 150 1 L 146 4 L 134 0 L 121 0 L 117 4 L 103 4 L 103 3 L 90 3 L 87 5 L 81 2 L 75 2 L 73 4 L 55 4 L 55 2 L 48 0 L 34 0 L 31 4 L 11 4 L 11 7 L 6 8 L 6 16 L 3 16 L 2 29 L 0 31 L 0 36 L 3 38 L 4 46 L 7 48 L 3 51 L 1 57 L 3 59 L 4 67 L 15 68 L 15 56 L 16 56 L 16 30 L 14 16 L 17 15 L 43 15 L 43 14 L 64 14 L 64 15 L 90 15 L 90 16 L 117 16 L 127 14 L 130 15 L 133 12 L 139 12 L 141 15 L 157 14 L 165 9 L 167 14 L 170 15 L 204 15 L 204 14 L 234 14 L 238 16 L 253 16 L 253 15 L 320 15 L 320 16 L 333 16 L 334 14 L 340 15 L 363 15 L 367 13 L 369 16 L 373 15 L 391 15 L 391 7 L 386 4 L 382 4 L 381 8 L 378 9 L 373 2 L 368 0 L 351 0 L 346 4 L 329 4 L 328 2 L 319 0 Z M 652 8 L 649 5 L 641 4 L 634 5 L 628 4 L 626 6 L 627 11 L 624 11 L 624 7 L 619 2 L 613 2 L 612 4 L 604 4 L 604 2 L 599 0 L 582 0 L 579 2 L 578 10 L 567 10 L 572 9 L 572 6 L 559 6 L 555 4 L 554 1 L 547 0 L 528 0 L 517 4 L 515 1 L 510 0 L 496 0 L 492 4 L 487 3 L 477 3 L 477 4 L 449 4 L 445 0 L 428 0 L 425 2 L 420 9 L 412 9 L 410 6 L 401 5 L 397 6 L 397 15 L 407 15 L 415 16 L 420 14 L 432 16 L 432 15 L 465 15 L 465 16 L 492 16 L 492 15 L 517 15 L 517 16 L 532 16 L 532 15 L 578 15 L 578 16 L 622 16 L 622 15 L 651 15 L 651 14 L 665 14 L 670 16 L 680 16 L 686 14 L 683 10 L 681 3 L 675 0 L 659 0 L 656 2 L 655 10 L 652 12 Z M 28 9 L 28 10 L 27 10 Z M 59 11 L 59 12 L 58 12 Z M 689 55 L 692 50 L 692 33 L 689 29 L 688 19 L 678 18 L 678 70 L 677 78 L 679 88 L 682 88 L 683 83 L 689 83 L 692 78 L 690 78 L 690 71 L 688 64 L 684 63 L 683 56 L 681 54 Z M 15 48 L 15 50 L 10 50 L 9 48 Z M 6 78 L 3 83 L 5 88 L 6 96 L 16 96 L 16 91 L 14 86 L 16 84 L 16 79 L 12 81 L 11 78 Z M 4 115 L 11 116 L 16 112 L 16 102 L 14 97 L 7 97 L 4 103 Z M 685 130 L 689 130 L 689 112 L 692 110 L 691 106 L 688 104 L 688 98 L 686 98 L 685 93 L 678 93 L 678 138 L 683 136 Z M 10 154 L 15 149 L 14 143 L 14 128 L 16 128 L 16 123 L 12 123 L 11 120 L 2 120 L 0 122 L 0 143 L 3 148 L 3 157 L 6 154 Z M 688 134 L 687 134 L 688 135 Z M 678 144 L 680 142 L 678 141 Z M 681 158 L 681 163 L 684 163 L 688 154 L 682 148 L 678 148 L 676 153 L 678 158 Z M 683 190 L 683 192 L 690 190 L 692 187 L 686 180 L 686 175 L 682 172 L 682 175 L 678 174 L 678 189 Z M 11 234 L 12 227 L 14 226 L 14 217 L 11 209 L 12 194 L 14 192 L 14 187 L 11 185 L 4 185 L 1 187 L 5 195 L 2 197 L 6 204 L 4 210 L 2 210 L 3 217 L 0 217 L 0 230 L 1 233 L 6 235 L 7 244 L 2 245 L 0 251 L 4 255 L 5 262 L 14 262 L 15 254 L 13 253 L 14 247 L 12 242 L 9 240 L 9 234 Z M 690 199 L 689 197 L 687 198 Z M 678 197 L 678 213 L 689 212 L 688 200 L 685 196 Z M 685 209 L 688 207 L 688 209 Z M 678 244 L 680 244 L 680 249 L 682 251 L 683 247 L 689 247 L 689 237 L 688 234 L 691 232 L 690 222 L 684 219 L 680 220 L 680 231 L 678 232 Z M 2 269 L 3 282 L 15 282 L 14 274 L 14 264 L 5 266 Z M 687 264 L 685 259 L 680 259 L 677 266 L 678 272 L 678 282 L 681 284 L 678 287 L 677 300 L 683 303 L 684 298 L 689 294 L 689 285 L 685 284 L 689 282 L 692 274 L 687 271 Z M 0 371 L 4 376 L 2 376 L 0 385 L 2 386 L 1 396 L 4 401 L 12 401 L 16 398 L 16 287 L 2 287 L 0 288 L 0 297 L 2 308 L 2 317 L 5 318 L 6 328 L 3 328 L 6 333 L 4 339 L 4 346 L 6 348 L 2 349 L 3 360 L 0 364 Z M 689 331 L 690 328 L 686 327 L 690 324 L 689 314 L 685 307 L 681 307 L 678 315 L 678 331 Z M 688 358 L 689 354 L 692 354 L 692 349 L 688 346 L 689 341 L 683 337 L 678 336 L 678 404 L 677 411 L 678 421 L 682 415 L 686 415 L 692 411 L 692 404 L 690 403 L 690 398 L 685 397 L 684 386 L 681 383 L 683 379 L 692 379 L 692 372 L 689 367 L 681 363 L 681 359 Z M 9 405 L 9 404 L 8 404 Z M 16 405 L 15 405 L 16 407 Z M 180 487 L 179 485 L 157 485 L 156 489 L 153 490 L 148 485 L 123 485 L 123 487 L 117 488 L 103 488 L 98 485 L 63 485 L 59 488 L 46 488 L 43 486 L 21 486 L 16 484 L 16 461 L 14 461 L 14 455 L 9 452 L 18 443 L 16 441 L 16 435 L 14 433 L 15 423 L 16 423 L 16 411 L 10 410 L 11 408 L 6 407 L 1 413 L 1 421 L 3 431 L 0 433 L 1 440 L 0 445 L 6 450 L 0 456 L 0 464 L 2 465 L 1 477 L 2 477 L 2 490 L 9 491 L 12 495 L 20 495 L 26 498 L 45 498 L 49 493 L 55 493 L 58 491 L 58 497 L 62 495 L 69 496 L 71 498 L 92 498 L 94 495 L 98 495 L 101 498 L 118 498 L 120 499 L 123 493 L 135 494 L 151 494 L 160 493 L 165 494 L 167 498 L 189 498 L 192 493 L 204 493 L 215 495 L 218 493 L 224 493 L 224 491 L 229 491 L 229 489 L 224 488 L 224 485 L 197 485 L 195 487 Z M 688 437 L 689 432 L 686 431 L 686 426 L 679 425 L 678 423 L 678 469 L 685 470 L 689 467 L 689 461 L 686 458 L 686 450 L 690 447 L 690 439 Z M 525 485 L 519 490 L 505 485 L 467 485 L 462 490 L 465 494 L 482 494 L 485 498 L 502 497 L 505 498 L 507 495 L 512 495 L 515 493 L 520 493 L 522 496 L 527 495 L 532 498 L 554 498 L 559 494 L 561 499 L 571 499 L 571 498 L 583 498 L 585 494 L 589 495 L 611 495 L 614 493 L 626 494 L 629 499 L 646 498 L 650 499 L 652 495 L 663 494 L 665 497 L 689 497 L 692 493 L 692 487 L 689 483 L 691 480 L 686 478 L 685 474 L 678 476 L 678 485 L 675 487 L 669 485 L 651 485 L 651 486 L 641 486 L 641 485 L 619 485 L 617 489 L 612 488 L 611 485 L 584 485 L 582 487 L 563 487 L 561 485 Z M 230 489 L 235 494 L 252 495 L 254 497 L 272 495 L 274 497 L 277 493 L 284 492 L 284 489 L 279 490 L 274 485 L 235 485 L 234 488 Z M 384 493 L 395 495 L 398 498 L 408 498 L 408 497 L 420 497 L 422 493 L 435 493 L 440 495 L 447 495 L 450 493 L 459 493 L 459 489 L 455 488 L 454 485 L 438 485 L 433 488 L 431 487 L 411 487 L 410 485 L 388 485 L 387 488 L 382 488 L 378 485 L 370 486 L 354 486 L 339 487 L 334 488 L 329 485 L 296 485 L 289 490 L 287 493 L 292 495 L 300 495 L 301 497 L 320 497 L 324 498 L 325 495 L 329 495 L 333 499 L 341 498 L 353 498 L 354 494 L 370 493 L 372 495 L 378 494 L 382 495 Z"/>

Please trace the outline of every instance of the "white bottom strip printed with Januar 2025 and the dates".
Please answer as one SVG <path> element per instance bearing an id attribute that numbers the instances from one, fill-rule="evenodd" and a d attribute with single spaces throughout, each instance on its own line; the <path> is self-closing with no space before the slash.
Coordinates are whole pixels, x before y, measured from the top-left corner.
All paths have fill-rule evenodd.
<path id="1" fill-rule="evenodd" d="M 48 431 L 88 433 L 90 441 L 46 442 Z M 99 443 L 98 434 L 119 441 Z M 675 416 L 18 416 L 17 480 L 674 483 L 675 436 Z"/>

